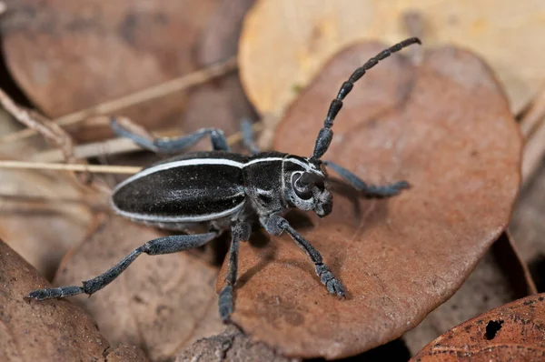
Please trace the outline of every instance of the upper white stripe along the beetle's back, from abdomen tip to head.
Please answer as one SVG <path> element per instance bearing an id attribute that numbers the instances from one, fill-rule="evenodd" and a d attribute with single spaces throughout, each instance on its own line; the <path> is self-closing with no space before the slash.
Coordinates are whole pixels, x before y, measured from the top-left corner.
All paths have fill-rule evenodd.
<path id="1" fill-rule="evenodd" d="M 254 165 L 260 162 L 271 162 L 271 161 L 284 161 L 284 162 L 292 162 L 293 164 L 299 165 L 304 167 L 308 171 L 312 171 L 314 173 L 317 173 L 319 175 L 322 175 L 322 172 L 317 170 L 312 164 L 307 164 L 304 162 L 301 162 L 298 159 L 295 158 L 283 158 L 283 157 L 266 157 L 266 158 L 256 158 L 252 161 L 242 163 L 238 161 L 233 161 L 230 159 L 225 158 L 189 158 L 185 160 L 179 160 L 179 161 L 173 161 L 173 162 L 167 162 L 161 165 L 152 166 L 149 168 L 144 169 L 144 171 L 141 171 L 140 173 L 130 176 L 129 178 L 125 179 L 122 183 L 115 186 L 114 192 L 118 190 L 119 188 L 139 179 L 144 176 L 148 176 L 151 174 L 154 174 L 155 172 L 160 172 L 164 170 L 168 170 L 175 167 L 182 167 L 182 166 L 198 166 L 198 165 L 218 165 L 218 166 L 233 166 L 237 168 L 244 168 L 246 166 Z"/>

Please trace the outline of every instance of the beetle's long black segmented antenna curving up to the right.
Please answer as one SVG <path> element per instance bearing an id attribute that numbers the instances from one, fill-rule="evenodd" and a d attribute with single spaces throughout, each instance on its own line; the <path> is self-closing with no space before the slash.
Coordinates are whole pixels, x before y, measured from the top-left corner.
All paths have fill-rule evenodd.
<path id="1" fill-rule="evenodd" d="M 364 65 L 356 69 L 352 73 L 350 78 L 342 84 L 341 89 L 337 94 L 337 97 L 332 100 L 332 104 L 329 111 L 327 112 L 327 117 L 325 118 L 325 121 L 323 121 L 323 128 L 320 130 L 320 133 L 316 138 L 316 146 L 314 146 L 314 152 L 312 153 L 311 158 L 320 159 L 320 157 L 325 154 L 328 147 L 330 146 L 333 138 L 333 121 L 335 120 L 335 117 L 342 108 L 342 100 L 350 93 L 350 91 L 352 91 L 354 83 L 357 82 L 358 79 L 360 79 L 365 74 L 365 72 L 367 72 L 373 66 L 377 65 L 382 59 L 387 58 L 393 53 L 399 52 L 402 48 L 413 44 L 421 44 L 420 39 L 417 37 L 411 37 L 409 39 L 403 40 L 401 43 L 392 45 L 388 49 L 382 50 L 381 53 L 373 56 L 371 59 L 365 62 Z"/>

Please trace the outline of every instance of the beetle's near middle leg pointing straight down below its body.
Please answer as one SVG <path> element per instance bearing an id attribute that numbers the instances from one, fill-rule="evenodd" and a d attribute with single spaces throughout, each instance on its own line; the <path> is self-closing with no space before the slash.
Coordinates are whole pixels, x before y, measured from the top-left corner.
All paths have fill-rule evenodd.
<path id="1" fill-rule="evenodd" d="M 231 227 L 232 240 L 227 262 L 227 275 L 225 276 L 226 285 L 220 292 L 219 298 L 220 317 L 223 322 L 227 321 L 233 313 L 233 287 L 236 283 L 239 244 L 243 240 L 248 240 L 251 232 L 252 226 L 248 223 L 242 222 Z"/>

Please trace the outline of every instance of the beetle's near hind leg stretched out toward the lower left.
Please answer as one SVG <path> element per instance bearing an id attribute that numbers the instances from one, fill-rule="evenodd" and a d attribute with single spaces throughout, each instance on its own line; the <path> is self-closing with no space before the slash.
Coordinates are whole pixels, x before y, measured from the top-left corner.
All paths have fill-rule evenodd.
<path id="1" fill-rule="evenodd" d="M 70 297 L 78 294 L 88 294 L 91 296 L 96 291 L 106 287 L 116 277 L 119 277 L 124 270 L 134 262 L 137 256 L 142 253 L 150 256 L 162 254 L 176 253 L 185 249 L 203 246 L 208 243 L 217 233 L 197 234 L 197 235 L 179 235 L 179 236 L 164 236 L 154 240 L 150 240 L 143 246 L 139 246 L 133 250 L 131 254 L 125 256 L 122 261 L 117 263 L 110 270 L 101 274 L 98 277 L 84 281 L 83 287 L 53 287 L 48 289 L 36 289 L 26 297 L 28 299 L 44 300 L 55 297 Z"/>

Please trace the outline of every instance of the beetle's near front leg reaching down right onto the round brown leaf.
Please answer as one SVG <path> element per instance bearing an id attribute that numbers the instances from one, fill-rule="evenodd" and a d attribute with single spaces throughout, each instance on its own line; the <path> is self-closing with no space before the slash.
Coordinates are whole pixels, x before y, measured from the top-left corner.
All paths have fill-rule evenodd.
<path id="1" fill-rule="evenodd" d="M 292 239 L 297 246 L 301 247 L 302 251 L 304 251 L 306 255 L 311 258 L 312 263 L 314 263 L 316 268 L 316 275 L 320 277 L 322 284 L 327 287 L 327 290 L 339 297 L 344 297 L 344 287 L 342 287 L 341 282 L 335 276 L 333 276 L 329 267 L 323 264 L 322 256 L 318 250 L 316 250 L 311 243 L 305 240 L 305 238 L 302 237 L 290 225 L 290 223 L 288 223 L 288 220 L 282 216 L 270 216 L 267 220 L 264 220 L 264 223 L 262 221 L 262 224 L 271 235 L 279 236 L 282 234 L 282 231 L 285 231 L 292 236 Z"/>

